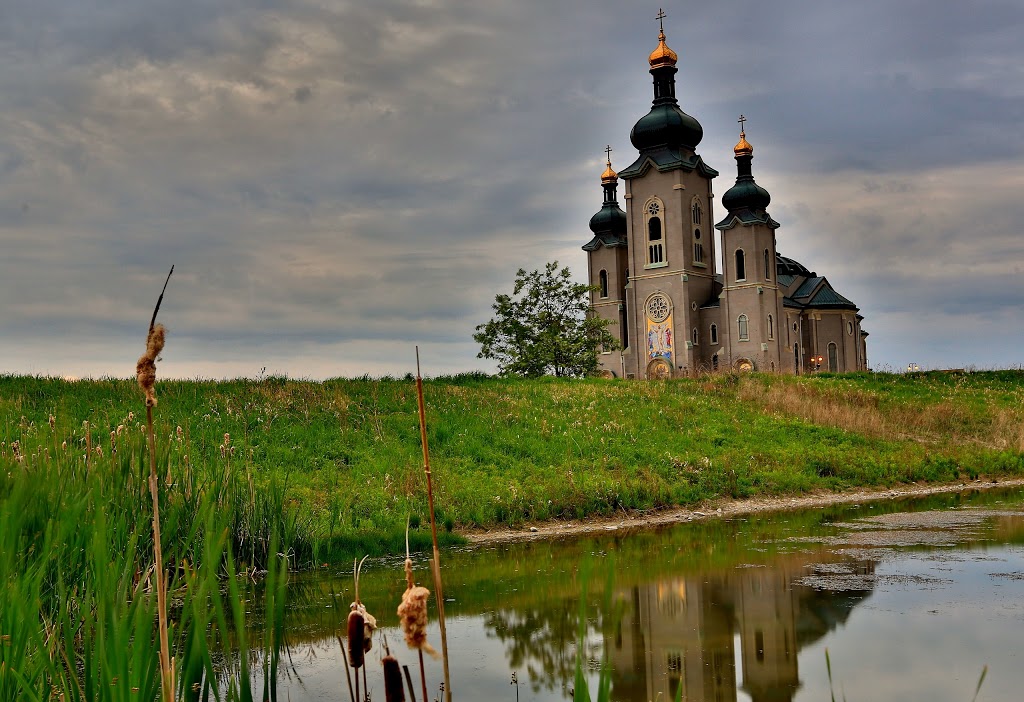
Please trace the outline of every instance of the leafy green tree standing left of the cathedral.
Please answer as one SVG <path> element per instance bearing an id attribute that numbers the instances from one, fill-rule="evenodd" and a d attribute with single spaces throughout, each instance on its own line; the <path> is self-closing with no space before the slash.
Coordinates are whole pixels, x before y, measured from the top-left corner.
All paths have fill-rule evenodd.
<path id="1" fill-rule="evenodd" d="M 591 286 L 573 282 L 558 261 L 516 273 L 512 295 L 495 297 L 495 317 L 476 327 L 477 358 L 494 358 L 503 376 L 591 376 L 597 348 L 618 348 L 608 320 L 590 309 Z"/>

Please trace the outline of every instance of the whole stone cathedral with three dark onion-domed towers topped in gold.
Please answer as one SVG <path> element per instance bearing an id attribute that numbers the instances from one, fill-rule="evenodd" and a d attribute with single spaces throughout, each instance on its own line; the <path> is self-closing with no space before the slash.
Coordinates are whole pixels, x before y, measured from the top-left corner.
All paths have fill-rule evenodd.
<path id="1" fill-rule="evenodd" d="M 768 214 L 771 195 L 754 180 L 742 117 L 736 183 L 722 195 L 725 214 L 714 225 L 720 233 L 710 226 L 718 171 L 696 152 L 703 129 L 676 100 L 677 59 L 663 25 L 649 58 L 654 100 L 630 133 L 639 156 L 618 173 L 609 156 L 604 202 L 583 247 L 592 309 L 622 345 L 599 349 L 601 370 L 650 379 L 865 369 L 867 333 L 857 306 L 775 250 L 779 223 Z"/>

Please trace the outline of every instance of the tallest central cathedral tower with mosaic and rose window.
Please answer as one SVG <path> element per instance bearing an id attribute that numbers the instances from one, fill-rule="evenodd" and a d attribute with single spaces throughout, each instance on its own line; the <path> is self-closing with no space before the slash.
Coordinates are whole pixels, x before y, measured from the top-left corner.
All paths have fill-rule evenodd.
<path id="1" fill-rule="evenodd" d="M 708 340 L 699 306 L 715 290 L 712 179 L 696 147 L 700 124 L 676 99 L 678 54 L 665 36 L 658 12 L 657 46 L 648 57 L 654 97 L 630 141 L 637 160 L 618 176 L 626 182 L 628 266 L 626 308 L 630 345 L 628 377 L 688 375 L 701 362 Z"/>

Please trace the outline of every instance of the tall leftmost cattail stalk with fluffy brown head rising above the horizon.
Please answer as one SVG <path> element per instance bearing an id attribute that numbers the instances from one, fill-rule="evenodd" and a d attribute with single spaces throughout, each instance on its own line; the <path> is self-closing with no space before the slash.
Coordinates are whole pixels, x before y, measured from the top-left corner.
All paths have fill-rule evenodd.
<path id="1" fill-rule="evenodd" d="M 145 339 L 145 353 L 135 365 L 138 385 L 145 393 L 145 426 L 150 444 L 150 494 L 153 496 L 153 557 L 157 571 L 157 617 L 160 630 L 160 689 L 164 702 L 174 702 L 174 661 L 171 658 L 167 637 L 167 573 L 164 572 L 164 554 L 160 543 L 160 491 L 157 480 L 157 436 L 153 431 L 153 408 L 157 404 L 155 386 L 157 382 L 157 358 L 164 350 L 164 326 L 157 323 L 160 303 L 164 301 L 167 283 L 171 280 L 171 266 L 164 289 L 157 298 L 157 306 L 150 319 L 150 332 Z"/>

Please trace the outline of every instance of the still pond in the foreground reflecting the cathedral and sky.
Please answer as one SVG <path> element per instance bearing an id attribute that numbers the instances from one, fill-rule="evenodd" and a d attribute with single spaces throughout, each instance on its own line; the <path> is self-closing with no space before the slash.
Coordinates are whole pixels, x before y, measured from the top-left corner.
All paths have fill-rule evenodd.
<path id="1" fill-rule="evenodd" d="M 970 702 L 984 666 L 979 700 L 1024 689 L 1020 490 L 467 549 L 441 562 L 458 701 L 571 699 L 578 654 L 592 691 L 606 666 L 618 702 L 673 700 L 680 687 L 691 702 L 827 700 L 826 649 L 836 699 L 850 702 Z M 429 586 L 427 563 L 416 569 Z M 415 679 L 395 615 L 403 588 L 400 559 L 367 562 L 361 599 Z M 350 567 L 294 577 L 279 699 L 349 699 L 337 634 L 352 594 Z M 439 648 L 433 603 L 430 616 Z M 375 700 L 380 641 L 367 658 Z M 427 679 L 433 699 L 439 663 L 428 660 Z"/>

